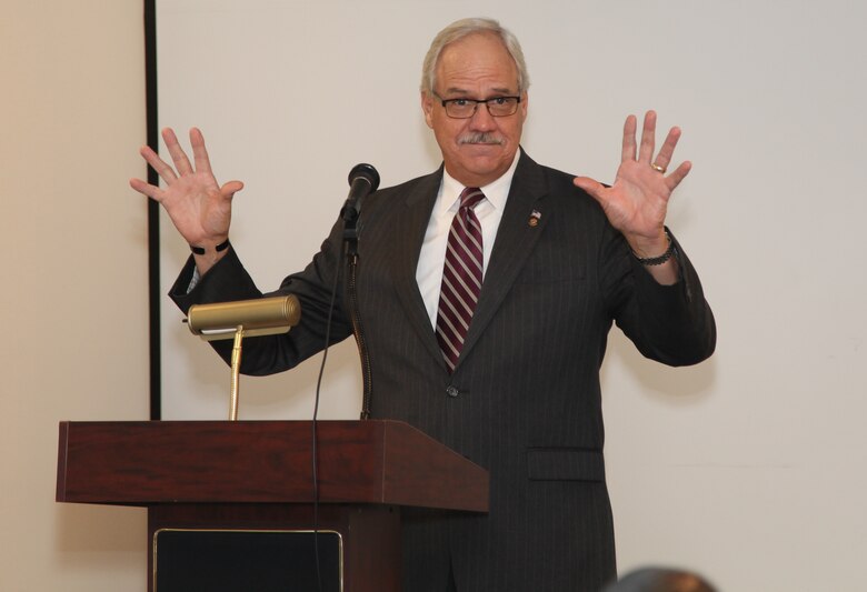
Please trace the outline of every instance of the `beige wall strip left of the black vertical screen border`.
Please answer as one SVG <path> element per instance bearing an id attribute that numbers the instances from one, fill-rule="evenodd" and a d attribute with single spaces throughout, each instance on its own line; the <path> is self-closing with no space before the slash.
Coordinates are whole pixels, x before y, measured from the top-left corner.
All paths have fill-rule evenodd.
<path id="1" fill-rule="evenodd" d="M 144 590 L 140 509 L 54 502 L 58 422 L 148 417 L 140 0 L 3 0 L 0 590 Z"/>

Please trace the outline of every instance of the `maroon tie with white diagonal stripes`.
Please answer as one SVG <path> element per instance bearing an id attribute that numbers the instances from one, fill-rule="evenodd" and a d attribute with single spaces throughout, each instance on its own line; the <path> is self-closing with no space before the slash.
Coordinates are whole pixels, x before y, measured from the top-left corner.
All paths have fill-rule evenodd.
<path id="1" fill-rule="evenodd" d="M 449 230 L 446 265 L 437 312 L 437 340 L 449 372 L 455 371 L 464 338 L 467 337 L 472 311 L 479 301 L 484 251 L 481 224 L 474 208 L 485 199 L 477 187 L 468 187 L 460 194 L 460 207 Z"/>

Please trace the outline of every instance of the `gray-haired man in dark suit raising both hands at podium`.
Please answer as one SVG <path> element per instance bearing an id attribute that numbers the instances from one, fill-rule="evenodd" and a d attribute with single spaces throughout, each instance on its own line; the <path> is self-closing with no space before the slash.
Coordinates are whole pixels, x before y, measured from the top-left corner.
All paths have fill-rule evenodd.
<path id="1" fill-rule="evenodd" d="M 528 84 L 520 46 L 496 21 L 446 28 L 421 87 L 444 165 L 373 193 L 361 212 L 372 417 L 407 421 L 490 471 L 488 515 L 403 516 L 409 592 L 597 591 L 612 580 L 599 389 L 607 333 L 617 322 L 645 355 L 672 365 L 715 345 L 698 277 L 664 227 L 690 168 L 666 174 L 679 130 L 656 152 L 648 112 L 637 147 L 630 116 L 614 184 L 572 178 L 519 148 Z M 173 168 L 148 148 L 142 155 L 167 187 L 131 184 L 196 248 L 172 298 L 186 310 L 259 295 L 228 245 L 241 183 L 218 185 L 198 130 L 195 167 L 171 130 L 163 138 Z M 283 281 L 301 322 L 247 341 L 243 372 L 286 370 L 322 349 L 341 242 L 338 223 Z M 351 334 L 342 289 L 337 302 L 331 342 Z"/>

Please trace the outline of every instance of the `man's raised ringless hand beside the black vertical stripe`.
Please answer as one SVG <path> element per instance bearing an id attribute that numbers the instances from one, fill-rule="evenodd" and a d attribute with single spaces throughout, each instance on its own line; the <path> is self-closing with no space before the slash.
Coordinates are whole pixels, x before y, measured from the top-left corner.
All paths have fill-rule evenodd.
<path id="1" fill-rule="evenodd" d="M 203 258 L 197 255 L 197 265 L 203 273 L 207 269 L 202 268 L 210 267 L 203 263 L 217 260 L 215 247 L 229 237 L 232 197 L 243 189 L 243 183 L 229 181 L 222 187 L 217 183 L 205 148 L 205 138 L 198 129 L 190 130 L 195 167 L 170 128 L 162 131 L 162 139 L 175 167 L 149 147 L 142 147 L 140 152 L 166 187 L 159 188 L 140 179 L 130 179 L 129 183 L 139 193 L 162 204 L 175 228 L 188 243 L 206 250 Z"/>

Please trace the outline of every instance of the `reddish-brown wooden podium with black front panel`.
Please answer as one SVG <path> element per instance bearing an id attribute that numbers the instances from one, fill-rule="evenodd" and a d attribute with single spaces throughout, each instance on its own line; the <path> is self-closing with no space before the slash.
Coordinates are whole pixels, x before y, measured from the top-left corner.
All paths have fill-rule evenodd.
<path id="1" fill-rule="evenodd" d="M 269 556 L 309 578 L 322 536 L 337 570 L 323 590 L 388 592 L 400 590 L 400 506 L 487 512 L 488 473 L 397 421 L 61 422 L 57 501 L 147 506 L 150 591 L 196 564 L 228 590 L 237 564 L 262 571 Z M 273 546 L 278 533 L 309 542 Z"/>

